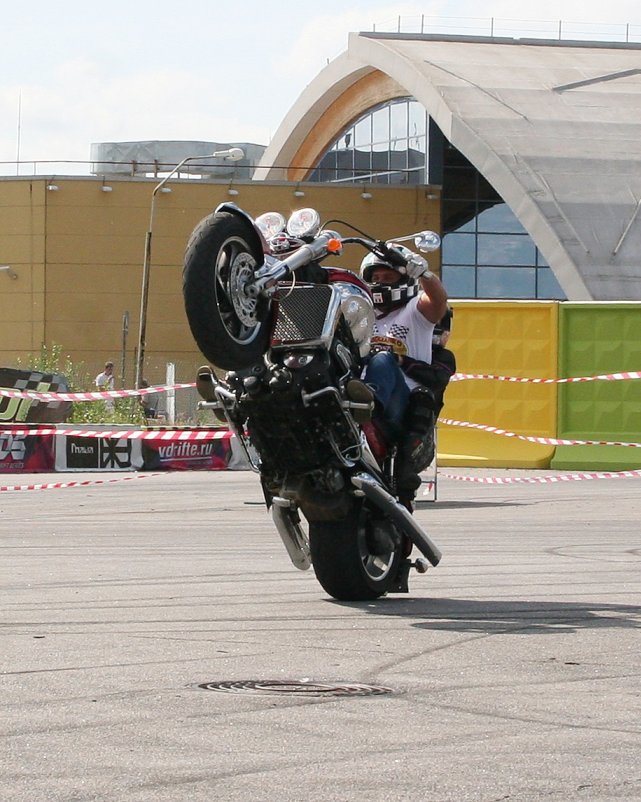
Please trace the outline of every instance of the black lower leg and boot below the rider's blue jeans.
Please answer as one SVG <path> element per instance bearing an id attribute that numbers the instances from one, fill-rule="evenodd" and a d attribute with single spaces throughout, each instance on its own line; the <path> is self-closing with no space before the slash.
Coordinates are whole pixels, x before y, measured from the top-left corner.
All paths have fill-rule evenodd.
<path id="1" fill-rule="evenodd" d="M 434 395 L 424 387 L 412 390 L 405 413 L 405 430 L 399 440 L 396 487 L 399 494 L 415 494 L 421 471 L 434 459 Z"/>

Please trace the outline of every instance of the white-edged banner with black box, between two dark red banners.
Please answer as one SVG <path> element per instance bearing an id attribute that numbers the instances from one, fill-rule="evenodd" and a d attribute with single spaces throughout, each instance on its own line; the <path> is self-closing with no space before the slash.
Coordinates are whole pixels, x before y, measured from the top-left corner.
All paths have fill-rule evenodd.
<path id="1" fill-rule="evenodd" d="M 55 437 L 56 471 L 135 471 L 143 466 L 139 440 Z"/>

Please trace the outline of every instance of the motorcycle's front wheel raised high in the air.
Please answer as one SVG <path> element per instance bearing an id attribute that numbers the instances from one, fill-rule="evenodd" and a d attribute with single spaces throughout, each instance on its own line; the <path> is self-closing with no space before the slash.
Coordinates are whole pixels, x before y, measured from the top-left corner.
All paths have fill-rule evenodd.
<path id="1" fill-rule="evenodd" d="M 251 224 L 231 212 L 210 214 L 194 229 L 185 254 L 183 297 L 191 333 L 213 364 L 241 370 L 269 341 L 268 304 L 243 286 L 263 263 Z"/>

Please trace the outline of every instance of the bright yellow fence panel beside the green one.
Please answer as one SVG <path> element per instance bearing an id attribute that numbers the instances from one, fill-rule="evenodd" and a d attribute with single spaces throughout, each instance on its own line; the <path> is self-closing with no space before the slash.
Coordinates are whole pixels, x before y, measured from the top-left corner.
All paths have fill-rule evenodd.
<path id="1" fill-rule="evenodd" d="M 457 372 L 518 378 L 558 377 L 554 301 L 454 301 L 449 346 Z M 515 434 L 556 437 L 557 385 L 471 379 L 451 382 L 441 418 Z M 439 426 L 439 465 L 547 468 L 554 446 Z"/>

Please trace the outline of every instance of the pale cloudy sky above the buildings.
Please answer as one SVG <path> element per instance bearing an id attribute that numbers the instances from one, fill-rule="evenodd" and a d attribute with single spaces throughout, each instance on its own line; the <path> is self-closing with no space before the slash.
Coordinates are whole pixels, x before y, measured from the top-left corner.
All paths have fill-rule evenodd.
<path id="1" fill-rule="evenodd" d="M 267 145 L 349 32 L 396 30 L 399 18 L 402 30 L 423 18 L 451 33 L 489 33 L 494 18 L 495 32 L 514 36 L 563 20 L 587 34 L 577 38 L 618 40 L 629 24 L 641 42 L 638 0 L 12 3 L 2 13 L 0 174 L 15 175 L 18 158 L 89 161 L 93 142 Z M 78 171 L 88 172 L 55 169 Z"/>

